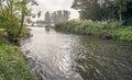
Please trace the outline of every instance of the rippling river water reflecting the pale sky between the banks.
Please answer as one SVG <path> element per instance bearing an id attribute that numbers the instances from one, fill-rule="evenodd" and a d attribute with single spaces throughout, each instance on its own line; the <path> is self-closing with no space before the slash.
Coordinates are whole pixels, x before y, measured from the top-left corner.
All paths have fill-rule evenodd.
<path id="1" fill-rule="evenodd" d="M 131 43 L 31 28 L 22 52 L 41 80 L 132 80 Z"/>

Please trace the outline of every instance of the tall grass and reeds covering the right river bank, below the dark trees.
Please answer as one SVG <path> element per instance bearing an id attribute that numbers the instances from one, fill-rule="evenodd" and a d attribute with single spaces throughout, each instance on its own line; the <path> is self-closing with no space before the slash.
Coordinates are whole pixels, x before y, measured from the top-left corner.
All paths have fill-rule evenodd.
<path id="1" fill-rule="evenodd" d="M 61 22 L 55 26 L 56 31 L 96 35 L 101 38 L 112 38 L 132 42 L 132 26 L 124 26 L 123 22 L 91 20 L 73 20 Z"/>

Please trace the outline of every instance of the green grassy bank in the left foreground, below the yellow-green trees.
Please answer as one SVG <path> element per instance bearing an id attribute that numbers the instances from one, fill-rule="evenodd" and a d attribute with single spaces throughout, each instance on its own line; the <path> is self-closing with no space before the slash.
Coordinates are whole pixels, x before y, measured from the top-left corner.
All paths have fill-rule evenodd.
<path id="1" fill-rule="evenodd" d="M 28 33 L 23 28 L 21 37 Z M 0 80 L 37 80 L 28 67 L 20 47 L 10 43 L 6 33 L 0 34 Z"/>

